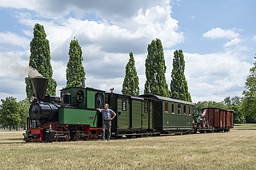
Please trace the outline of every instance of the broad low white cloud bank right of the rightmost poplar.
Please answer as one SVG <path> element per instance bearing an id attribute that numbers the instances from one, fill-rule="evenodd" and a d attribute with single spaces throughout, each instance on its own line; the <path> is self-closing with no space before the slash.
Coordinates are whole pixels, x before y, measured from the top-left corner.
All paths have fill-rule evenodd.
<path id="1" fill-rule="evenodd" d="M 193 101 L 223 101 L 242 96 L 251 65 L 242 53 L 185 53 L 186 79 Z"/>

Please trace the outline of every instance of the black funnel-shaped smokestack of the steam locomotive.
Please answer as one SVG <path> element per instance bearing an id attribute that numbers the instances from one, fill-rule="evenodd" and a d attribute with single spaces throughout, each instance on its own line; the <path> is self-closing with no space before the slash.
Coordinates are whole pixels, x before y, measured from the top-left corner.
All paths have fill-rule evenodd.
<path id="1" fill-rule="evenodd" d="M 48 81 L 49 79 L 43 76 L 31 78 L 35 97 L 38 98 L 38 101 L 43 101 L 43 99 L 45 98 Z"/>

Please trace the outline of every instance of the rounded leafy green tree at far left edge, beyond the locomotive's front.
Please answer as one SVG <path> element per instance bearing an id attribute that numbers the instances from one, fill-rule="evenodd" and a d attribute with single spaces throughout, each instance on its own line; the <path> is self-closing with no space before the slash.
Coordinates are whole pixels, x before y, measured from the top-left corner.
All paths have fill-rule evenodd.
<path id="1" fill-rule="evenodd" d="M 14 126 L 18 127 L 22 122 L 20 115 L 21 105 L 18 105 L 16 98 L 6 97 L 6 100 L 1 99 L 2 105 L 0 105 L 0 124 L 4 127 Z"/>

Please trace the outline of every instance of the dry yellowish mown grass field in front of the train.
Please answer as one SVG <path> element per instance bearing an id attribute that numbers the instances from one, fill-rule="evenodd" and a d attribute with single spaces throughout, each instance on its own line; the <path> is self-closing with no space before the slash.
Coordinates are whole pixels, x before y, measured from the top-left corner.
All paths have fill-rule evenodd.
<path id="1" fill-rule="evenodd" d="M 256 130 L 238 129 L 54 143 L 25 143 L 24 131 L 0 130 L 0 169 L 256 169 Z"/>

